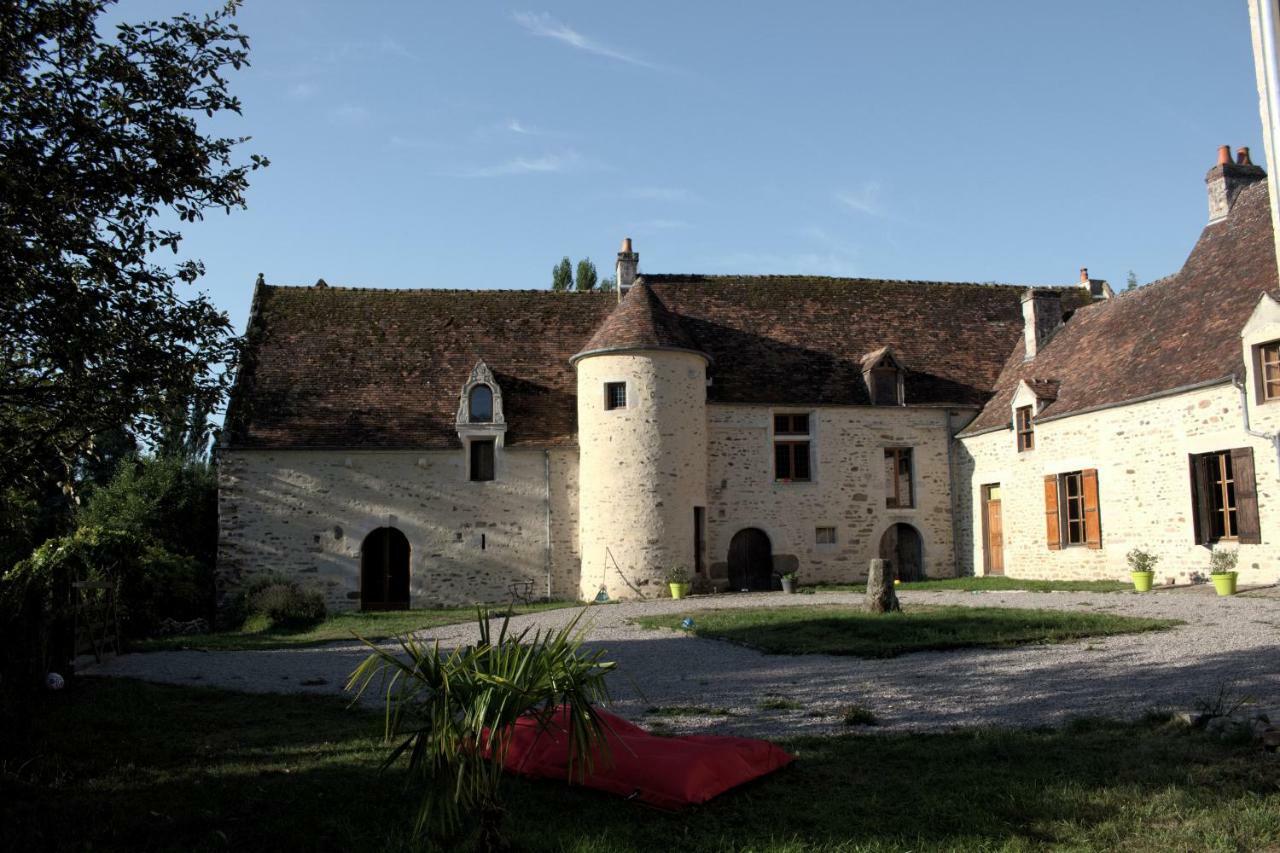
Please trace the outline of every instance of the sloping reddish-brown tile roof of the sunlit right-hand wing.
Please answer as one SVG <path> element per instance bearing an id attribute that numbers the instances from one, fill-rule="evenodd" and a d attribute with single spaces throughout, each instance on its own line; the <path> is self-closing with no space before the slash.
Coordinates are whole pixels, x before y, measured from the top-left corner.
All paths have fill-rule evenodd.
<path id="1" fill-rule="evenodd" d="M 1030 362 L 1019 341 L 995 396 L 964 433 L 1007 426 L 1010 401 L 1028 377 L 1061 383 L 1039 419 L 1226 382 L 1244 368 L 1240 329 L 1276 283 L 1267 183 L 1258 181 L 1204 228 L 1176 274 L 1078 309 Z"/>

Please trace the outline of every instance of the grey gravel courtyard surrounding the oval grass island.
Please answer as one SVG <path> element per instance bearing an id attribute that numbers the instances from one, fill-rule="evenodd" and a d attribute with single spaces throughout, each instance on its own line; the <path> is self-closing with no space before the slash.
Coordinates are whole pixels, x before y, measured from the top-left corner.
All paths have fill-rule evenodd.
<path id="1" fill-rule="evenodd" d="M 672 731 L 755 736 L 847 731 L 841 711 L 869 708 L 878 730 L 940 730 L 972 725 L 1036 726 L 1078 716 L 1133 717 L 1146 708 L 1189 710 L 1226 683 L 1253 697 L 1256 707 L 1280 716 L 1280 590 L 1267 588 L 1217 598 L 1211 587 L 1134 593 L 913 592 L 910 605 L 1091 610 L 1128 616 L 1178 619 L 1167 631 L 1094 638 L 1012 649 L 924 652 L 891 660 L 778 656 L 699 639 L 678 631 L 644 630 L 637 615 L 719 607 L 859 603 L 858 593 L 783 596 L 753 593 L 686 601 L 613 603 L 584 619 L 593 644 L 618 662 L 614 711 L 654 724 L 650 707 L 727 708 L 732 716 L 675 716 Z M 516 628 L 558 626 L 577 610 L 530 613 Z M 470 624 L 425 630 L 442 646 L 468 642 Z M 124 654 L 88 670 L 172 684 L 233 690 L 342 693 L 347 675 L 365 657 L 358 643 L 259 652 L 151 652 Z M 799 710 L 762 710 L 765 697 L 783 697 Z"/>

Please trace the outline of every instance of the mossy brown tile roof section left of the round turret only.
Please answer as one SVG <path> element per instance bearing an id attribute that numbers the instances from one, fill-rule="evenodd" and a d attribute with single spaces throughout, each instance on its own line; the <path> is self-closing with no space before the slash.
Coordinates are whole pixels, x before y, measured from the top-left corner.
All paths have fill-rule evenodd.
<path id="1" fill-rule="evenodd" d="M 612 293 L 260 286 L 227 447 L 458 447 L 458 394 L 484 360 L 507 444 L 572 444 L 568 359 Z"/>

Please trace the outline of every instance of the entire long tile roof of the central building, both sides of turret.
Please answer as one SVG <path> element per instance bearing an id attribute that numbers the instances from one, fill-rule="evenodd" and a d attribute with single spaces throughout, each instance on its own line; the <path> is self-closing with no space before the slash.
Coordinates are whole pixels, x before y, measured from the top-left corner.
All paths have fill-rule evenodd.
<path id="1" fill-rule="evenodd" d="M 508 446 L 577 435 L 571 359 L 692 350 L 710 402 L 868 405 L 863 357 L 891 348 L 909 403 L 980 407 L 1021 339 L 1024 287 L 818 277 L 650 275 L 612 293 L 260 286 L 232 393 L 230 448 L 457 447 L 476 361 Z"/>

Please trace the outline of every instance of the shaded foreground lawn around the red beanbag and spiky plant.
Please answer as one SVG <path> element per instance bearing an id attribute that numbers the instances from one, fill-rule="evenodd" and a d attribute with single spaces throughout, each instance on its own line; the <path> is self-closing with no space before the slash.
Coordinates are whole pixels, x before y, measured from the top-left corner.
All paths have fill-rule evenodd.
<path id="1" fill-rule="evenodd" d="M 82 679 L 0 720 L 6 850 L 407 850 L 381 717 L 323 697 Z M 1261 850 L 1280 761 L 1157 724 L 783 742 L 796 762 L 668 815 L 512 779 L 516 849 Z"/>

